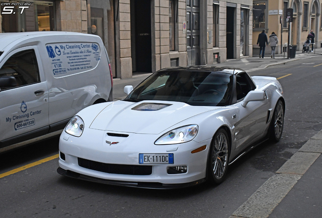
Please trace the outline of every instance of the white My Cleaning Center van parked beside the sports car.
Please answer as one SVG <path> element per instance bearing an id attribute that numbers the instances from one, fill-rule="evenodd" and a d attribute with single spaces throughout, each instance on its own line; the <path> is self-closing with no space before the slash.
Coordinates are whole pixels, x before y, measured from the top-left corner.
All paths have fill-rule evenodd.
<path id="1" fill-rule="evenodd" d="M 113 100 L 99 36 L 1 33 L 0 42 L 0 152 L 58 135 L 83 108 Z"/>

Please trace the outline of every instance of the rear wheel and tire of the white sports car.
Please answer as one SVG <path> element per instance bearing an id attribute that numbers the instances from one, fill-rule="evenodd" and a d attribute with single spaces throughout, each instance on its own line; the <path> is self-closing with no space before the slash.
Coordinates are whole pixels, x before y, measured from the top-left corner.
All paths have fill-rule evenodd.
<path id="1" fill-rule="evenodd" d="M 281 100 L 278 100 L 275 106 L 274 114 L 270 122 L 270 139 L 278 142 L 283 133 L 285 108 Z"/>

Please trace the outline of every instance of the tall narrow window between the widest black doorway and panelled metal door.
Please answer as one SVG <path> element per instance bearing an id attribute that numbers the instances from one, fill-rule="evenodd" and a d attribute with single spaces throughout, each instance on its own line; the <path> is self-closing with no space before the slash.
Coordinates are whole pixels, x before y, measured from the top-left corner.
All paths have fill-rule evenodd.
<path id="1" fill-rule="evenodd" d="M 176 0 L 169 1 L 169 45 L 170 50 L 177 50 L 176 35 L 178 26 L 178 2 Z"/>

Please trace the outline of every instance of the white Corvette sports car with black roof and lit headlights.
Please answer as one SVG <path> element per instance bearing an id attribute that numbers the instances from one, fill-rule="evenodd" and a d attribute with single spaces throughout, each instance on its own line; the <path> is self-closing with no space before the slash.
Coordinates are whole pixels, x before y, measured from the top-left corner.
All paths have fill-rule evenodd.
<path id="1" fill-rule="evenodd" d="M 273 77 L 176 67 L 125 92 L 70 120 L 60 136 L 59 174 L 142 188 L 219 184 L 228 165 L 283 131 L 283 89 Z"/>

